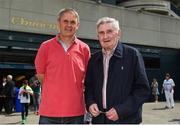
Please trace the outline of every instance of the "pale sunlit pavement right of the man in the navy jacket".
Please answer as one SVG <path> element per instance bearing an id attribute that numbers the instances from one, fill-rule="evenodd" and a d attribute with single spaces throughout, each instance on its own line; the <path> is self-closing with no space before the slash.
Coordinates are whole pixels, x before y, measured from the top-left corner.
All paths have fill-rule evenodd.
<path id="1" fill-rule="evenodd" d="M 166 109 L 165 102 L 145 103 L 143 124 L 180 124 L 180 102 L 173 109 Z"/>

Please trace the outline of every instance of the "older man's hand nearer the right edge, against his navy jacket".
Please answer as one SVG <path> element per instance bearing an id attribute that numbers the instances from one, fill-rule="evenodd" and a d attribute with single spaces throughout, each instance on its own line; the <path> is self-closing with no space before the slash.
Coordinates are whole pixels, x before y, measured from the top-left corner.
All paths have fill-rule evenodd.
<path id="1" fill-rule="evenodd" d="M 114 108 L 111 108 L 109 111 L 106 112 L 106 117 L 112 121 L 116 121 L 119 119 L 119 116 Z"/>

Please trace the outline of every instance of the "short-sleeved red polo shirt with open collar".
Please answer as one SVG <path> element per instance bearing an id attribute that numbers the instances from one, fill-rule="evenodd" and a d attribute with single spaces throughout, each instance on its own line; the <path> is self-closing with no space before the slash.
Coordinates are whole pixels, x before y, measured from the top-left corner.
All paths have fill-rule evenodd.
<path id="1" fill-rule="evenodd" d="M 44 74 L 39 113 L 49 117 L 70 117 L 84 114 L 84 76 L 90 49 L 75 39 L 64 48 L 54 37 L 41 44 L 35 59 L 37 74 Z"/>

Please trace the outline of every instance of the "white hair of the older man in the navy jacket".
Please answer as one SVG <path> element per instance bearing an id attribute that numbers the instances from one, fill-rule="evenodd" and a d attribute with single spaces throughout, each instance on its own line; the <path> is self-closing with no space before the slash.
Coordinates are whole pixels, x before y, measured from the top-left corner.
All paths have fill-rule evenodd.
<path id="1" fill-rule="evenodd" d="M 96 27 L 99 28 L 99 26 L 101 24 L 105 24 L 105 23 L 111 23 L 114 28 L 116 28 L 117 30 L 121 30 L 120 27 L 119 27 L 119 21 L 114 19 L 114 18 L 111 18 L 111 17 L 102 17 L 102 18 L 100 18 L 96 23 Z"/>

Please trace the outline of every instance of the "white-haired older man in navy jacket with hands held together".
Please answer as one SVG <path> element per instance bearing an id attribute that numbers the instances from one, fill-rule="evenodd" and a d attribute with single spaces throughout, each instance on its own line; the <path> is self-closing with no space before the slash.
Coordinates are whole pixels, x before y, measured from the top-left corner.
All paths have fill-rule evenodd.
<path id="1" fill-rule="evenodd" d="M 85 78 L 85 100 L 92 124 L 139 124 L 142 105 L 150 95 L 139 51 L 122 44 L 118 20 L 97 22 L 102 47 L 90 58 Z"/>

